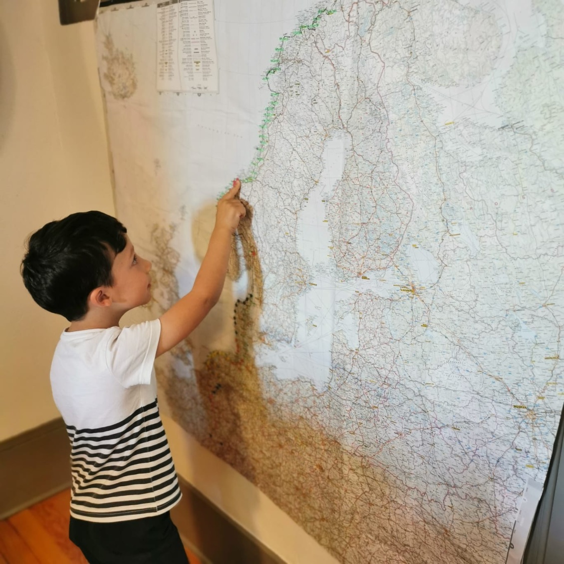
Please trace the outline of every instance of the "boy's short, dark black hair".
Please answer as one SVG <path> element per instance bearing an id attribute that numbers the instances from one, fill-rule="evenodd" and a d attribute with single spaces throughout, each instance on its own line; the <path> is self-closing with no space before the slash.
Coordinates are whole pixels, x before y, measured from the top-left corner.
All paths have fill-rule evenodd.
<path id="1" fill-rule="evenodd" d="M 99 286 L 111 286 L 114 253 L 126 245 L 126 228 L 102 211 L 73 213 L 33 233 L 21 261 L 32 298 L 47 311 L 81 319 L 87 299 Z"/>

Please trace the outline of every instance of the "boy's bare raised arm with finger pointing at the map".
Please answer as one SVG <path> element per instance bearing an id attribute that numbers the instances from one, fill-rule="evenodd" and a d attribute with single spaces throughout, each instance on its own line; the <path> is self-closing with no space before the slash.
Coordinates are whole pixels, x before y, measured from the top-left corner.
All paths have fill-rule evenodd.
<path id="1" fill-rule="evenodd" d="M 245 215 L 245 206 L 237 197 L 240 189 L 240 180 L 233 180 L 231 190 L 218 201 L 215 227 L 194 285 L 160 317 L 161 336 L 156 356 L 185 339 L 217 303 L 227 274 L 231 237 Z"/>

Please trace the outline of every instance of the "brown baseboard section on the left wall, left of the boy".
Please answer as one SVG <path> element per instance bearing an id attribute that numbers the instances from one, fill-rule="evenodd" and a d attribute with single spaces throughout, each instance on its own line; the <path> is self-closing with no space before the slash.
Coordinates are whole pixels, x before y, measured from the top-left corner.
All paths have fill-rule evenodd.
<path id="1" fill-rule="evenodd" d="M 70 487 L 70 444 L 62 418 L 0 443 L 0 519 Z"/>

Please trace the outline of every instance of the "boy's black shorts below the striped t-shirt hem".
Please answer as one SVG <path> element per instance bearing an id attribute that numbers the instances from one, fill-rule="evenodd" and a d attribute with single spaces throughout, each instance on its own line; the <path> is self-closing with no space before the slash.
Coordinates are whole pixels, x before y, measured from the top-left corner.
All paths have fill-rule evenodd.
<path id="1" fill-rule="evenodd" d="M 90 564 L 189 564 L 170 512 L 115 523 L 70 517 L 69 538 Z"/>

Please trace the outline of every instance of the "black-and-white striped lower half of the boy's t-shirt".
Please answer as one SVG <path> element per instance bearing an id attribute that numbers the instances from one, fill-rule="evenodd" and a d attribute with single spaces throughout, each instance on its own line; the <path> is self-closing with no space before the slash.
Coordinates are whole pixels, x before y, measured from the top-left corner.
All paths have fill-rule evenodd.
<path id="1" fill-rule="evenodd" d="M 88 521 L 148 517 L 171 508 L 179 499 L 156 399 L 114 425 L 67 426 L 67 432 L 72 446 L 70 513 L 74 517 Z"/>

